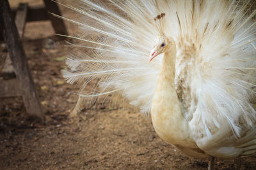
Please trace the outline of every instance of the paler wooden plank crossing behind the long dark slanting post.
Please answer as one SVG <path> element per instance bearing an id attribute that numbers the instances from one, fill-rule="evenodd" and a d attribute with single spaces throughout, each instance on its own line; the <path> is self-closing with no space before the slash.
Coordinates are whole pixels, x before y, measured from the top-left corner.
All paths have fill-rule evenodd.
<path id="1" fill-rule="evenodd" d="M 17 26 L 19 36 L 21 39 L 24 35 L 27 11 L 28 11 L 28 3 L 20 3 L 16 12 L 15 24 Z M 4 80 L 8 80 L 16 77 L 9 53 L 4 62 L 2 74 L 3 74 Z"/>

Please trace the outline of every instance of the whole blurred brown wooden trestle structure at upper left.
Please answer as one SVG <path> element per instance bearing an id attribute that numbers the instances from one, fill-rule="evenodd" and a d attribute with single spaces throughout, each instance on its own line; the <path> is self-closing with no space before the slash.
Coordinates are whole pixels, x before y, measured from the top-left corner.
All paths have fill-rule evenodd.
<path id="1" fill-rule="evenodd" d="M 0 30 L 9 51 L 2 71 L 3 80 L 0 80 L 0 97 L 22 96 L 28 114 L 40 120 L 44 120 L 44 113 L 21 42 L 24 27 L 26 22 L 51 20 L 56 33 L 67 34 L 63 20 L 47 12 L 61 15 L 57 4 L 51 0 L 44 0 L 44 3 L 45 8 L 42 6 L 32 8 L 28 3 L 20 3 L 16 10 L 11 11 L 8 0 L 0 1 Z M 13 15 L 15 15 L 15 22 Z"/>

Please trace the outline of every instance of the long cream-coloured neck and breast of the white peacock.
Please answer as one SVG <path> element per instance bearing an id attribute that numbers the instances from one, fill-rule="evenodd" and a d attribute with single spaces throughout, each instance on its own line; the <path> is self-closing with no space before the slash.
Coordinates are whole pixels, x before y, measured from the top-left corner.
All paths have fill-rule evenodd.
<path id="1" fill-rule="evenodd" d="M 176 49 L 164 53 L 156 90 L 152 99 L 152 122 L 157 134 L 173 145 L 195 147 L 189 136 L 188 122 L 184 119 L 175 91 Z"/>

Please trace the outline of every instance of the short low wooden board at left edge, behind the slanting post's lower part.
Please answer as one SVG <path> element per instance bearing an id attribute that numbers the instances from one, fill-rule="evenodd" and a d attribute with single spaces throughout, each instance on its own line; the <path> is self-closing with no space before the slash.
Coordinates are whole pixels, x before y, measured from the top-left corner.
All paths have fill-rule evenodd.
<path id="1" fill-rule="evenodd" d="M 20 86 L 17 78 L 0 80 L 0 97 L 21 96 Z"/>

